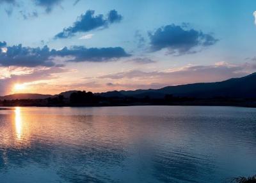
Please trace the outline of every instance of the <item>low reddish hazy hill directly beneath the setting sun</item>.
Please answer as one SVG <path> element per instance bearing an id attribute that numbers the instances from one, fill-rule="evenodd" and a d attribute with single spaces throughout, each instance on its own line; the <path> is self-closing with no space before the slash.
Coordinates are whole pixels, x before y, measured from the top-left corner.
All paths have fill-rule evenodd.
<path id="1" fill-rule="evenodd" d="M 54 97 L 53 95 L 43 95 L 38 93 L 16 93 L 0 97 L 0 100 L 15 100 L 15 99 L 47 99 Z"/>

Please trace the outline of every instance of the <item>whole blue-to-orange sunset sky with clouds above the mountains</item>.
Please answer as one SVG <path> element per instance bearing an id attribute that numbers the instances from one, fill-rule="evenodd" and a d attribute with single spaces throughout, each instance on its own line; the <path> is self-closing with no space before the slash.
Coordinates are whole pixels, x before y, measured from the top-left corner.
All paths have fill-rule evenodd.
<path id="1" fill-rule="evenodd" d="M 254 0 L 0 0 L 0 95 L 246 76 L 255 10 Z"/>

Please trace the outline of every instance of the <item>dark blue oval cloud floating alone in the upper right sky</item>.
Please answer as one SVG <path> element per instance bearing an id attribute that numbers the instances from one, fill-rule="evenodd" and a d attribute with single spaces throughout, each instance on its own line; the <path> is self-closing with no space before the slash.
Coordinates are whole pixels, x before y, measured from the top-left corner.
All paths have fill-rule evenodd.
<path id="1" fill-rule="evenodd" d="M 152 51 L 168 49 L 169 54 L 189 54 L 196 51 L 196 47 L 207 47 L 216 44 L 218 39 L 210 34 L 195 29 L 184 29 L 175 24 L 157 29 L 154 33 L 148 33 Z"/>

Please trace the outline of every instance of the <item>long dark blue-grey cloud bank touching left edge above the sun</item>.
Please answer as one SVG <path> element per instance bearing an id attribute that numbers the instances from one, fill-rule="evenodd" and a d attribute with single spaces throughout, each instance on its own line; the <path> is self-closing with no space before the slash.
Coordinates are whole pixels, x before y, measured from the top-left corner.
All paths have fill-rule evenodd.
<path id="1" fill-rule="evenodd" d="M 6 47 L 6 42 L 0 42 L 0 47 Z M 86 48 L 83 46 L 64 47 L 61 50 L 50 50 L 49 47 L 23 47 L 13 45 L 6 47 L 6 51 L 0 50 L 0 65 L 2 66 L 20 66 L 20 67 L 36 67 L 56 66 L 55 57 L 72 58 L 68 61 L 110 61 L 116 58 L 129 56 L 122 47 L 106 47 L 106 48 Z"/>

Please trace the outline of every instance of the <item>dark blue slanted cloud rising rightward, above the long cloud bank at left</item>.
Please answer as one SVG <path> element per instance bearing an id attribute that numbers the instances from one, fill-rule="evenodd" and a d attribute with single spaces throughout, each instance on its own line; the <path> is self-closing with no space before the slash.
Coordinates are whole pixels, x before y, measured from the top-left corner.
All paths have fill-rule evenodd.
<path id="1" fill-rule="evenodd" d="M 122 20 L 122 16 L 118 15 L 116 10 L 111 10 L 106 18 L 102 14 L 94 15 L 94 13 L 95 11 L 88 10 L 78 17 L 72 26 L 64 28 L 54 38 L 69 38 L 76 35 L 76 33 L 88 32 L 97 28 L 107 28 L 109 24 Z"/>

